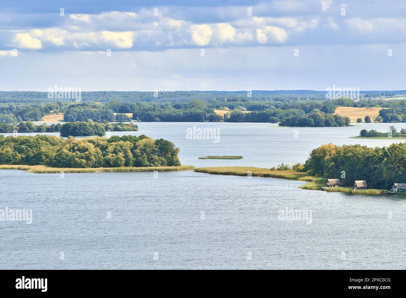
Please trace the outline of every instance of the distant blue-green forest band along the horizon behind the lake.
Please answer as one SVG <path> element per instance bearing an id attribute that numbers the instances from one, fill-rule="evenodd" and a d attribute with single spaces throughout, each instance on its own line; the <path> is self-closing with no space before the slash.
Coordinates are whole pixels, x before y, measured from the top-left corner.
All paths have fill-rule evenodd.
<path id="1" fill-rule="evenodd" d="M 350 98 L 326 100 L 325 92 L 308 90 L 251 91 L 249 96 L 245 91 L 175 91 L 158 92 L 158 96 L 153 92 L 95 91 L 83 92 L 82 101 L 73 102 L 48 98 L 36 100 L 46 95 L 45 92 L 13 91 L 0 92 L 0 123 L 39 121 L 43 115 L 64 113 L 66 122 L 91 119 L 94 122 L 225 121 L 282 122 L 283 126 L 345 126 L 345 119 L 341 121 L 329 115 L 338 106 L 382 107 L 384 109 L 374 122 L 406 122 L 406 100 L 389 98 L 392 94 L 405 93 L 374 91 L 354 101 Z M 229 113 L 218 115 L 216 109 L 229 110 Z M 319 114 L 314 115 L 315 112 Z M 125 113 L 132 114 L 132 119 Z"/>

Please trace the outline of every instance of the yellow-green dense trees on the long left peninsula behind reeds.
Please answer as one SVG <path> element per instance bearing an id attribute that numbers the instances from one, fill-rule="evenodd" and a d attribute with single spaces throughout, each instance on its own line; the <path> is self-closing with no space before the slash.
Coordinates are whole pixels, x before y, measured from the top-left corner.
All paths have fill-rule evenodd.
<path id="1" fill-rule="evenodd" d="M 124 135 L 62 139 L 0 135 L 0 164 L 50 167 L 160 167 L 180 165 L 179 148 L 164 139 Z"/>

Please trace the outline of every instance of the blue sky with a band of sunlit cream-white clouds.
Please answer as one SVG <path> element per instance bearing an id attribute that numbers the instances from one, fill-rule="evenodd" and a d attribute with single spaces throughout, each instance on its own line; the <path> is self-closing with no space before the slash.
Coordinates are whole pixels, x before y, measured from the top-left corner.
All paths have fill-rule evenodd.
<path id="1" fill-rule="evenodd" d="M 405 11 L 404 0 L 2 0 L 0 90 L 403 90 Z"/>

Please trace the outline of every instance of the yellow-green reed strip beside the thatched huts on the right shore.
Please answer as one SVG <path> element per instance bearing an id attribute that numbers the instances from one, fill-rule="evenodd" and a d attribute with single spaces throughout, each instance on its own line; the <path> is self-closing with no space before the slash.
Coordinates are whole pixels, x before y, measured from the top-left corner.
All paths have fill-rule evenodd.
<path id="1" fill-rule="evenodd" d="M 322 190 L 326 186 L 327 179 L 321 177 L 311 176 L 304 172 L 295 171 L 278 171 L 269 170 L 261 167 L 198 167 L 194 172 L 215 174 L 215 175 L 235 175 L 235 176 L 251 176 L 271 177 L 290 180 L 307 181 L 306 184 L 301 185 L 301 189 Z M 384 194 L 386 189 L 352 189 L 352 187 L 327 187 L 326 191 L 339 191 L 348 194 Z"/>

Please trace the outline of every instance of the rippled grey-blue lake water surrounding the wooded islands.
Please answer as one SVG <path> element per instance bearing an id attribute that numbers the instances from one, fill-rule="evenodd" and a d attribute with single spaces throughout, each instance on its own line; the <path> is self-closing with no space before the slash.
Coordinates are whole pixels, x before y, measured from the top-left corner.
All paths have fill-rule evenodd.
<path id="1" fill-rule="evenodd" d="M 312 149 L 330 142 L 391 144 L 348 138 L 363 128 L 388 131 L 390 124 L 382 123 L 137 124 L 138 132 L 112 135 L 168 139 L 181 149 L 182 164 L 199 167 L 304 162 Z M 193 126 L 218 129 L 219 141 L 188 139 L 186 130 Z M 198 159 L 205 155 L 244 159 Z M 0 170 L 0 209 L 32 210 L 32 224 L 0 221 L 0 269 L 406 268 L 406 198 L 302 190 L 302 183 L 192 171 L 156 177 Z M 305 211 L 306 220 L 283 220 L 286 209 Z"/>

